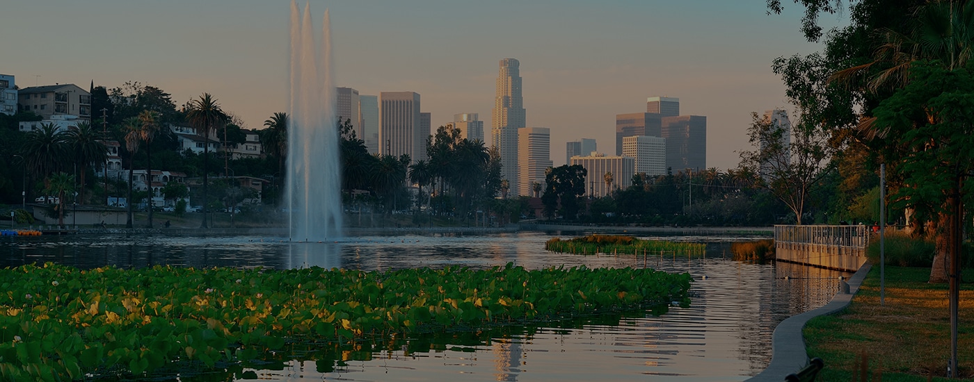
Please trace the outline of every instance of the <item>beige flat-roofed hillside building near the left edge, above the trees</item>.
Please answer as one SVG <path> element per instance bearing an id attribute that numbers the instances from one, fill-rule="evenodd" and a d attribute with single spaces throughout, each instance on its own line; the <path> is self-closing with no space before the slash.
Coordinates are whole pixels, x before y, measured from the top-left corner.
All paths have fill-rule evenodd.
<path id="1" fill-rule="evenodd" d="M 92 120 L 92 94 L 74 84 L 24 87 L 18 90 L 20 111 L 30 111 L 50 120 L 54 116 L 77 116 Z"/>

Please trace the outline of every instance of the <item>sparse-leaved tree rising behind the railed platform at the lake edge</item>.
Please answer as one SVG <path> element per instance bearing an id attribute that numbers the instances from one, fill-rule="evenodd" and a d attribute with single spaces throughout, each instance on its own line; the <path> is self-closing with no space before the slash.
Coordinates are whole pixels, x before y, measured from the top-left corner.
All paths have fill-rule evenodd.
<path id="1" fill-rule="evenodd" d="M 756 150 L 741 152 L 740 166 L 758 174 L 759 186 L 784 202 L 801 226 L 810 189 L 828 171 L 828 136 L 804 120 L 772 123 L 757 113 L 751 119 L 748 138 Z"/>

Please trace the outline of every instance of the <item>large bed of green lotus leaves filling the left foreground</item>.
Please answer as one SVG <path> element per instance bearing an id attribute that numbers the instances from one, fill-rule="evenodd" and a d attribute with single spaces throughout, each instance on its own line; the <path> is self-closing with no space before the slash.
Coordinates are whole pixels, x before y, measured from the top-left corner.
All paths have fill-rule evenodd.
<path id="1" fill-rule="evenodd" d="M 355 271 L 56 265 L 0 269 L 0 379 L 144 375 L 355 344 L 690 302 L 689 274 L 586 267 Z M 663 312 L 665 308 L 655 310 Z"/>

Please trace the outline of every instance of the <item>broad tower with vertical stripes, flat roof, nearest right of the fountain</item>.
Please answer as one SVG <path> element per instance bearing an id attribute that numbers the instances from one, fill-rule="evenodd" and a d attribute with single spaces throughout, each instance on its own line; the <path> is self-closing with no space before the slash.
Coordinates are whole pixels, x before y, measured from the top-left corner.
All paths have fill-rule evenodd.
<path id="1" fill-rule="evenodd" d="M 413 91 L 379 93 L 379 152 L 384 156 L 417 156 L 420 130 L 420 94 Z M 426 153 L 424 153 L 425 155 Z"/>

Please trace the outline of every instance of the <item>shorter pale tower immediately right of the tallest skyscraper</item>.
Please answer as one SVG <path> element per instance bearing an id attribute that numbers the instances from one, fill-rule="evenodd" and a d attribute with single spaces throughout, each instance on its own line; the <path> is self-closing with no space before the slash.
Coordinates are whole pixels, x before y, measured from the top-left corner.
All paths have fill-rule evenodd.
<path id="1" fill-rule="evenodd" d="M 544 188 L 544 171 L 551 167 L 551 129 L 547 127 L 524 127 L 517 129 L 517 163 L 520 166 L 519 194 L 534 196 L 531 186 L 534 183 Z"/>

